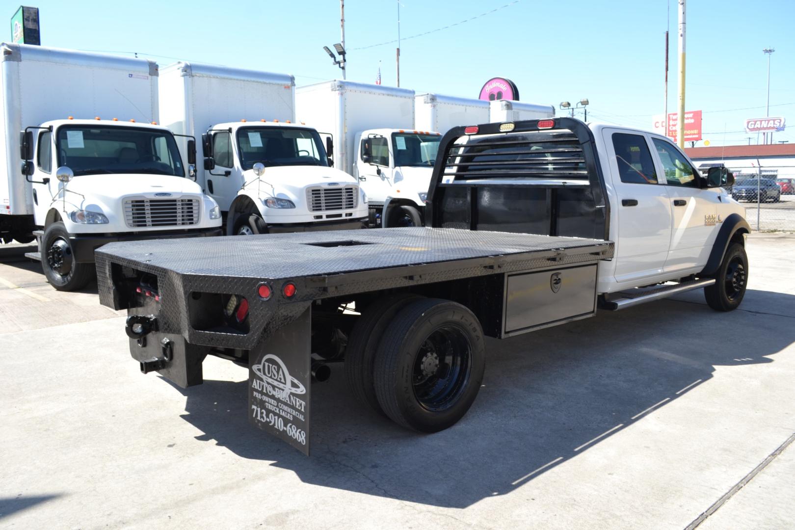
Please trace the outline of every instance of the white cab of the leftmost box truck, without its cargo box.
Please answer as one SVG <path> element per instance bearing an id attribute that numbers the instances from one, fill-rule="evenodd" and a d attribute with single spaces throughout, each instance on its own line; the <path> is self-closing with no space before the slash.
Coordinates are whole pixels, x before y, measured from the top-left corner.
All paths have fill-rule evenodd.
<path id="1" fill-rule="evenodd" d="M 39 251 L 29 256 L 41 259 L 56 289 L 82 288 L 94 250 L 108 242 L 221 234 L 218 204 L 191 180 L 192 165 L 184 167 L 165 127 L 69 118 L 20 136 L 41 227 Z"/>

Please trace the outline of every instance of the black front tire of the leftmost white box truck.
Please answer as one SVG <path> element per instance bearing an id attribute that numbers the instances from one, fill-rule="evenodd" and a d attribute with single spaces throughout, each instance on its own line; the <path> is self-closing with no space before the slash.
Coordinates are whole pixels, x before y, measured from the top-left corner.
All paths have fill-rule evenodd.
<path id="1" fill-rule="evenodd" d="M 41 269 L 52 287 L 58 291 L 82 289 L 94 276 L 95 269 L 91 265 L 75 261 L 63 222 L 47 226 L 41 238 Z"/>

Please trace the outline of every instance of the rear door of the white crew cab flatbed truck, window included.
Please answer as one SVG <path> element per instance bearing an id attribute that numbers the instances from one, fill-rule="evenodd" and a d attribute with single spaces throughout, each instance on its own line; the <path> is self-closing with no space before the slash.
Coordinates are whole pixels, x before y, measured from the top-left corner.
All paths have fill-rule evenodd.
<path id="1" fill-rule="evenodd" d="M 604 129 L 615 193 L 618 226 L 615 280 L 638 280 L 662 273 L 671 239 L 671 205 L 652 157 L 650 138 L 642 133 Z"/>

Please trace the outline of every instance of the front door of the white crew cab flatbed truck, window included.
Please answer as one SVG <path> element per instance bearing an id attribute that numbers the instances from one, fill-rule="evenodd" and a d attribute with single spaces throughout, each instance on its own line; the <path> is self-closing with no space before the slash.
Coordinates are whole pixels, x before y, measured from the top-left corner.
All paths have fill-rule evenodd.
<path id="1" fill-rule="evenodd" d="M 716 226 L 719 189 L 701 189 L 701 176 L 684 153 L 664 137 L 651 137 L 671 203 L 673 231 L 665 272 L 707 264 Z"/>

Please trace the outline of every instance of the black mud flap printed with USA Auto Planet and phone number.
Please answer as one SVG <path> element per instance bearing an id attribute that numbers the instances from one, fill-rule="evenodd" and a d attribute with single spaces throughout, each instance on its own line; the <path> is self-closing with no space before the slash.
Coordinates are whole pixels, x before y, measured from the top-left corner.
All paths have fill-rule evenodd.
<path id="1" fill-rule="evenodd" d="M 249 419 L 309 455 L 312 308 L 249 354 Z"/>

